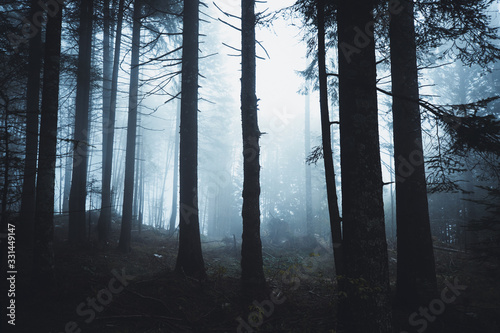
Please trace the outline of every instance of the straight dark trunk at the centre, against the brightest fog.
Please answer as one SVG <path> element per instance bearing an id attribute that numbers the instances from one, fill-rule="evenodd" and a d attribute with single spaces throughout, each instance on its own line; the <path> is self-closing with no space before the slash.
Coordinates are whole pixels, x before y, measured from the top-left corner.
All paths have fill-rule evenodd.
<path id="1" fill-rule="evenodd" d="M 265 289 L 260 240 L 260 165 L 255 64 L 255 0 L 241 1 L 241 124 L 243 132 L 243 235 L 241 280 L 244 291 Z"/>

